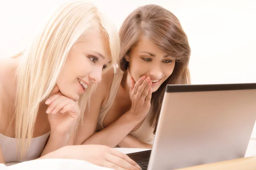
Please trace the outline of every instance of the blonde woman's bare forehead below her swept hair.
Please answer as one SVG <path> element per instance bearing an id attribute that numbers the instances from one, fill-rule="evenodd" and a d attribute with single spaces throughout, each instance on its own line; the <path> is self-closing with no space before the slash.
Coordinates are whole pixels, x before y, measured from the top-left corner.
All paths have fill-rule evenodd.
<path id="1" fill-rule="evenodd" d="M 81 48 L 86 51 L 95 51 L 102 54 L 107 60 L 111 60 L 109 43 L 104 34 L 96 32 L 86 35 L 85 39 L 78 42 Z"/>

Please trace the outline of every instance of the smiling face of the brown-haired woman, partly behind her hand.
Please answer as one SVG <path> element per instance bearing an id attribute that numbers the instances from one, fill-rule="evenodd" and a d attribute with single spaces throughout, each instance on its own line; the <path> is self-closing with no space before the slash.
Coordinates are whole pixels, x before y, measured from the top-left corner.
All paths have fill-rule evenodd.
<path id="1" fill-rule="evenodd" d="M 147 38 L 141 38 L 125 59 L 129 62 L 128 71 L 136 82 L 142 76 L 151 78 L 152 92 L 157 91 L 175 67 L 175 59 Z"/>

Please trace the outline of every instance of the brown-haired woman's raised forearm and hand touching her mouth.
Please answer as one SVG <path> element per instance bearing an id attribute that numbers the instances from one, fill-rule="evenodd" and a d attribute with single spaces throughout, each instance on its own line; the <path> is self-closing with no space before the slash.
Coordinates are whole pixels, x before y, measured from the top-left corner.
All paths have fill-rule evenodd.
<path id="1" fill-rule="evenodd" d="M 93 134 L 93 136 L 86 139 L 82 144 L 100 144 L 107 145 L 108 147 L 115 147 L 119 144 L 145 118 L 149 111 L 151 100 L 151 91 L 149 90 L 151 89 L 151 84 L 148 85 L 149 81 L 150 79 L 144 81 L 141 78 L 135 86 L 134 81 L 130 90 L 133 99 L 131 109 L 108 127 Z"/>

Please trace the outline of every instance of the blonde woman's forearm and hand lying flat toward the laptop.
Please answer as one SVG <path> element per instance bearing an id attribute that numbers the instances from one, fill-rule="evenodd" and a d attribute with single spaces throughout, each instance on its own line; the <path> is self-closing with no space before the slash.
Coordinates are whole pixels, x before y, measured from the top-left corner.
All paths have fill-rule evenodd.
<path id="1" fill-rule="evenodd" d="M 126 154 L 105 145 L 71 145 L 51 153 L 49 158 L 79 159 L 114 170 L 141 170 L 140 166 Z"/>

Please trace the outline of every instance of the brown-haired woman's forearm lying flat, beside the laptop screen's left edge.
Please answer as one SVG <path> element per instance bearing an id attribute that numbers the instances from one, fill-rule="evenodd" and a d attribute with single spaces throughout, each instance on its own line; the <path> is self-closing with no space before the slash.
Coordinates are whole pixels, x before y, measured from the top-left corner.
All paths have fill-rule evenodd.
<path id="1" fill-rule="evenodd" d="M 146 148 L 146 149 L 152 149 L 151 144 L 147 144 L 144 142 L 141 142 L 134 136 L 131 136 L 128 134 L 125 136 L 125 138 L 118 144 L 119 147 L 127 147 L 127 148 Z"/>

